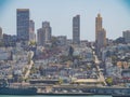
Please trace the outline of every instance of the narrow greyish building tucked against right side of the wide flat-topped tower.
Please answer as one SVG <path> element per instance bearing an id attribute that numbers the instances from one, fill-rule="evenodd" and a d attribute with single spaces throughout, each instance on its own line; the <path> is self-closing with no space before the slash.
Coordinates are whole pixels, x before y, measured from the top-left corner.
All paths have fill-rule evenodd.
<path id="1" fill-rule="evenodd" d="M 36 41 L 34 20 L 29 20 L 29 41 Z"/>

